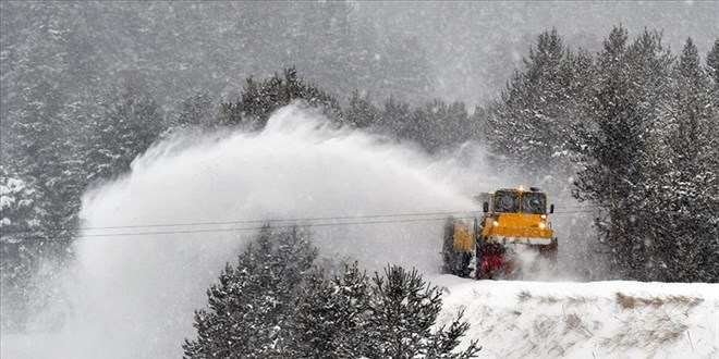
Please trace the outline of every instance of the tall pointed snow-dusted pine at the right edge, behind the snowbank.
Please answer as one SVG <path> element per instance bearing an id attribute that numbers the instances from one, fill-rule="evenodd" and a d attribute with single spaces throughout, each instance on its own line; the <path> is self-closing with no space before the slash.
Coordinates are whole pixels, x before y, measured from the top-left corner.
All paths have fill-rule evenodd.
<path id="1" fill-rule="evenodd" d="M 715 92 L 692 39 L 687 39 L 673 72 L 675 86 L 667 132 L 667 173 L 656 178 L 657 243 L 660 278 L 672 282 L 717 282 L 719 271 L 719 139 L 712 106 Z M 651 201 L 651 198 L 648 199 Z"/>

